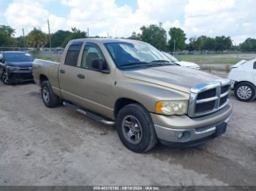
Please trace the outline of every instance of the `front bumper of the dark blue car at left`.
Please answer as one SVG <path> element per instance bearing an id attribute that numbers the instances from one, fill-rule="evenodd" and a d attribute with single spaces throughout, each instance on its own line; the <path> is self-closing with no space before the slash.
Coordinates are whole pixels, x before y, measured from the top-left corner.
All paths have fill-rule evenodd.
<path id="1" fill-rule="evenodd" d="M 29 82 L 33 80 L 32 71 L 7 70 L 7 76 L 10 82 Z"/>

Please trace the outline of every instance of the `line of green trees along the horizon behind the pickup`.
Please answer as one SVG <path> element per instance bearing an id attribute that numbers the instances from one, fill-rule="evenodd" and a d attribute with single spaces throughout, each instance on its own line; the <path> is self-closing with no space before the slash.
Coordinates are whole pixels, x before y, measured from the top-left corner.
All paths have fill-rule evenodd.
<path id="1" fill-rule="evenodd" d="M 248 38 L 243 43 L 234 46 L 230 36 L 192 36 L 187 41 L 187 36 L 181 28 L 170 28 L 165 31 L 162 28 L 162 23 L 157 25 L 142 26 L 141 33 L 132 33 L 128 39 L 136 39 L 157 47 L 159 50 L 165 51 L 225 51 L 225 50 L 240 50 L 240 51 L 256 51 L 256 39 Z M 170 39 L 167 41 L 167 32 Z M 14 37 L 15 29 L 10 26 L 0 26 L 0 47 L 50 47 L 49 35 L 43 31 L 34 28 L 26 36 Z M 78 28 L 72 28 L 71 31 L 59 30 L 50 34 L 52 47 L 65 47 L 71 39 L 87 38 L 85 31 L 80 31 Z M 97 37 L 99 36 L 90 36 Z"/>

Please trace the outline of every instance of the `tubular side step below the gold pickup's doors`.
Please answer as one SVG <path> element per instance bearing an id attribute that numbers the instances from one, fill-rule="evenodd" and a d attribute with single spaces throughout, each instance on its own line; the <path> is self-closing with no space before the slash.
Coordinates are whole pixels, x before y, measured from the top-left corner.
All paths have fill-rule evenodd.
<path id="1" fill-rule="evenodd" d="M 116 122 L 113 120 L 107 120 L 105 117 L 102 117 L 100 115 L 94 114 L 92 112 L 88 112 L 84 109 L 81 109 L 78 106 L 75 106 L 74 104 L 70 104 L 67 101 L 63 101 L 63 105 L 69 107 L 72 110 L 75 110 L 76 112 L 79 112 L 80 114 L 84 114 L 87 117 L 90 117 L 93 120 L 96 120 L 97 122 L 101 122 L 104 125 L 109 125 L 109 126 L 113 126 L 116 125 Z"/>

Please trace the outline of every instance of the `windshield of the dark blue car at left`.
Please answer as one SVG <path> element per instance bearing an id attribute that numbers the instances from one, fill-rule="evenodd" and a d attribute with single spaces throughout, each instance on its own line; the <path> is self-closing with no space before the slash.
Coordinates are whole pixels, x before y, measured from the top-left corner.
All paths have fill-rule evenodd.
<path id="1" fill-rule="evenodd" d="M 7 62 L 30 62 L 34 61 L 34 58 L 26 52 L 5 52 L 4 59 Z"/>

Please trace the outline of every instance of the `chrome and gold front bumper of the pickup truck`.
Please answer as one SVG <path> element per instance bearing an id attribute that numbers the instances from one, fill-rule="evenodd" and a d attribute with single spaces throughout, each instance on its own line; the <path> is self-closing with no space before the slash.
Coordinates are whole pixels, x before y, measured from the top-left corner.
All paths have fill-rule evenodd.
<path id="1" fill-rule="evenodd" d="M 161 115 L 157 117 L 157 114 L 151 114 L 151 117 L 153 116 L 154 128 L 162 144 L 173 147 L 192 147 L 219 136 L 219 128 L 226 128 L 231 112 L 232 106 L 229 104 L 218 112 L 204 117 Z M 160 122 L 161 120 L 164 121 Z"/>

